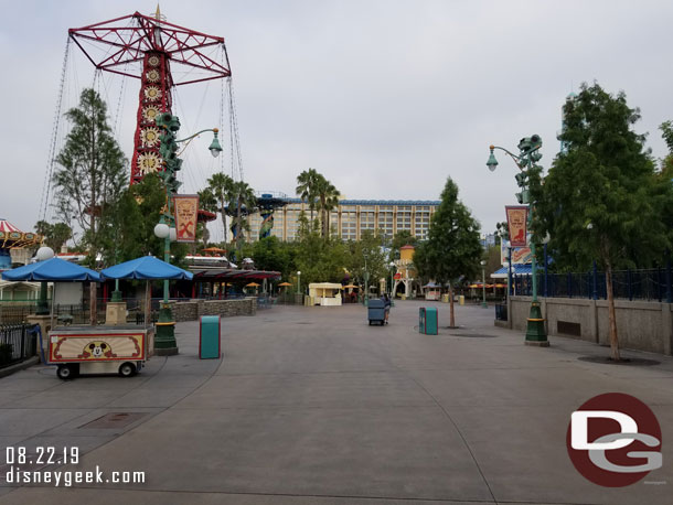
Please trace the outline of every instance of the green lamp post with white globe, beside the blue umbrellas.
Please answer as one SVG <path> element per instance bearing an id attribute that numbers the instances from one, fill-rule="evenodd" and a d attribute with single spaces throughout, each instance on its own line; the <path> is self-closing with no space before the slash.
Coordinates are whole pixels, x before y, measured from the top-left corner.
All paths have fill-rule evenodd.
<path id="1" fill-rule="evenodd" d="M 159 224 L 154 226 L 154 235 L 163 239 L 163 260 L 171 260 L 171 239 L 174 240 L 175 219 L 172 212 L 172 196 L 178 193 L 181 183 L 177 179 L 178 171 L 182 168 L 182 160 L 178 158 L 178 143 L 188 142 L 206 131 L 214 133 L 213 141 L 209 147 L 213 158 L 217 158 L 222 152 L 222 147 L 217 140 L 217 128 L 207 128 L 184 139 L 175 139 L 175 133 L 180 129 L 180 119 L 170 112 L 160 114 L 156 117 L 156 123 L 162 128 L 163 132 L 159 137 L 159 152 L 163 158 L 164 170 L 159 175 L 165 184 L 165 208 Z M 186 147 L 186 146 L 185 146 Z M 157 321 L 157 335 L 154 337 L 154 348 L 159 355 L 178 354 L 178 343 L 175 341 L 175 321 L 169 303 L 169 281 L 163 281 L 163 301 Z"/>

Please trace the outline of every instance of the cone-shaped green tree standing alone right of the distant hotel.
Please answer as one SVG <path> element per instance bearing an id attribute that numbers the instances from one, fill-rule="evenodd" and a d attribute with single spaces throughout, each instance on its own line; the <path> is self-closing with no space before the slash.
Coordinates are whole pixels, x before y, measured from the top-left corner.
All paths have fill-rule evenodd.
<path id="1" fill-rule="evenodd" d="M 458 186 L 449 178 L 441 192 L 441 203 L 430 219 L 428 240 L 416 249 L 414 264 L 421 278 L 449 286 L 450 326 L 456 325 L 453 284 L 463 276 L 474 278 L 483 249 L 479 224 L 458 200 Z"/>

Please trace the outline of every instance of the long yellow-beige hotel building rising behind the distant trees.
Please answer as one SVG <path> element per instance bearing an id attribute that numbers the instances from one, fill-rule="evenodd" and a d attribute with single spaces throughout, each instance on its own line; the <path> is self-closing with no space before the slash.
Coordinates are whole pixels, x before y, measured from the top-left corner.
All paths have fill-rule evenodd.
<path id="1" fill-rule="evenodd" d="M 404 229 L 423 240 L 428 236 L 430 217 L 439 203 L 416 200 L 342 200 L 330 213 L 330 229 L 343 240 L 359 240 L 366 229 L 381 230 L 387 237 Z M 302 212 L 310 218 L 311 211 L 307 203 L 300 198 L 288 198 L 288 204 L 274 214 L 271 235 L 281 240 L 295 240 Z M 314 211 L 313 217 L 320 217 L 319 213 Z M 258 239 L 261 221 L 259 214 L 248 216 L 252 240 Z"/>

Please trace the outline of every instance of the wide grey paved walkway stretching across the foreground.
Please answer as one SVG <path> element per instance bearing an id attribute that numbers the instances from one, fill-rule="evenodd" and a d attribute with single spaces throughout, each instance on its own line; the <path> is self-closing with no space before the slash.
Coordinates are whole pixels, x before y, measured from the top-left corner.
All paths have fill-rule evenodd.
<path id="1" fill-rule="evenodd" d="M 527 347 L 480 307 L 457 307 L 462 327 L 448 330 L 437 304 L 440 334 L 420 335 L 419 307 L 397 303 L 385 327 L 360 305 L 275 307 L 223 320 L 222 361 L 197 359 L 193 322 L 178 326 L 179 356 L 132 378 L 63 383 L 41 366 L 2 378 L 3 453 L 76 445 L 76 470 L 147 482 L 4 484 L 0 505 L 673 503 L 671 358 L 612 366 L 578 361 L 608 350 L 574 340 Z M 571 465 L 570 412 L 608 391 L 658 416 L 664 466 L 647 477 L 658 485 L 603 488 Z M 131 416 L 87 426 L 109 412 Z"/>

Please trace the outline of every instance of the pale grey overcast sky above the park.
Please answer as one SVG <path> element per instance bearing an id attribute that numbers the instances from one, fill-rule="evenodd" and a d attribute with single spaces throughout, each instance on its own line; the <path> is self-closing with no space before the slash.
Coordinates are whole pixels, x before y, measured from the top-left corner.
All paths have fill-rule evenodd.
<path id="1" fill-rule="evenodd" d="M 437 200 L 450 175 L 483 230 L 492 232 L 504 221 L 503 206 L 515 203 L 516 169 L 501 155 L 498 171 L 489 172 L 489 144 L 515 150 L 522 137 L 538 133 L 548 168 L 565 97 L 595 79 L 640 107 L 637 131 L 650 133 L 655 158 L 665 155 L 658 127 L 673 119 L 670 1 L 160 6 L 169 22 L 225 37 L 244 175 L 256 190 L 293 195 L 299 172 L 313 168 L 349 198 Z M 23 230 L 41 218 L 67 29 L 156 7 L 147 0 L 0 1 L 0 217 Z M 62 112 L 94 83 L 93 65 L 74 45 L 65 68 Z M 108 75 L 97 86 L 130 158 L 139 82 Z M 216 126 L 218 83 L 177 93 L 181 133 Z M 61 122 L 57 138 L 66 132 Z M 205 137 L 185 152 L 184 192 L 221 170 Z"/>

